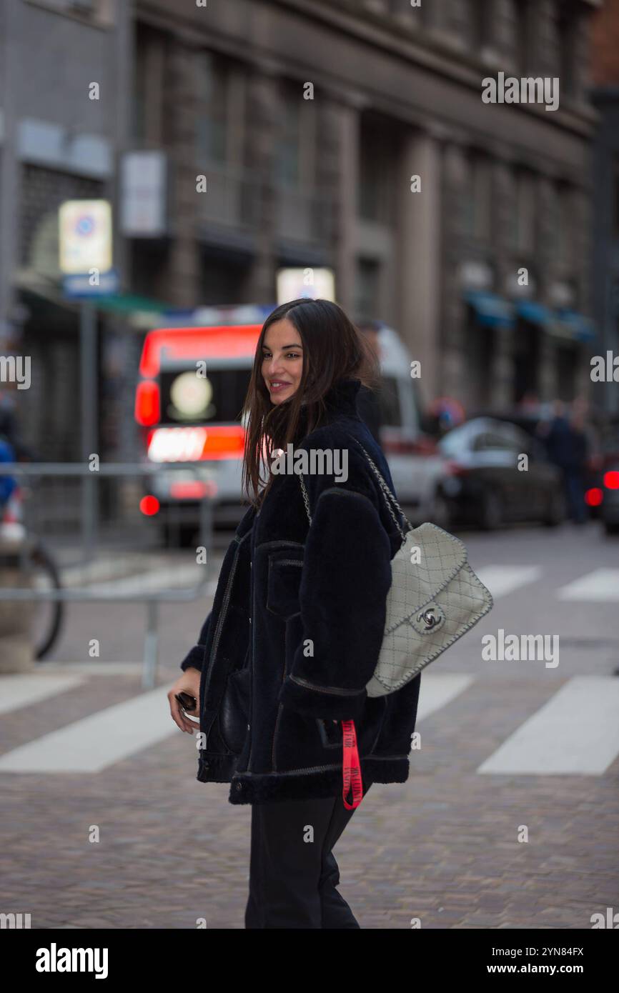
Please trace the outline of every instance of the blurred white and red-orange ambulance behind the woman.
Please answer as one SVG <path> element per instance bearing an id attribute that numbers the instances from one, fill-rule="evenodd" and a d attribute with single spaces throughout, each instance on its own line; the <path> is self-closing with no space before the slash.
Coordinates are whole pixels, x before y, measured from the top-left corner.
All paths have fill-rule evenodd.
<path id="1" fill-rule="evenodd" d="M 235 526 L 243 513 L 240 411 L 260 330 L 260 324 L 232 323 L 146 335 L 135 419 L 144 457 L 161 472 L 150 478 L 140 505 L 144 513 L 161 514 L 164 528 L 170 521 L 175 528 L 195 528 L 205 497 L 213 499 L 216 523 Z M 379 332 L 379 350 L 381 439 L 395 491 L 413 517 L 428 519 L 436 510 L 443 460 L 422 435 L 410 355 L 391 328 Z M 174 470 L 166 469 L 171 464 Z"/>

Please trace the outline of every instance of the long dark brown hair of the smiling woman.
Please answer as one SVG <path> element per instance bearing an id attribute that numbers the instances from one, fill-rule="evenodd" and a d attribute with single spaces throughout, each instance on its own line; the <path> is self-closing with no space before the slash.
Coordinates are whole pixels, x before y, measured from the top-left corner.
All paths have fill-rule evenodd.
<path id="1" fill-rule="evenodd" d="M 303 345 L 303 371 L 298 389 L 283 403 L 273 404 L 262 378 L 262 344 L 276 321 L 287 318 Z M 242 407 L 245 445 L 242 488 L 254 505 L 270 489 L 273 476 L 268 468 L 275 449 L 297 444 L 325 419 L 325 394 L 340 379 L 361 379 L 370 389 L 380 382 L 380 362 L 367 339 L 338 304 L 330 300 L 292 300 L 277 307 L 262 325 L 253 357 L 249 388 Z M 267 476 L 260 475 L 260 462 Z M 263 489 L 261 484 L 265 483 Z"/>

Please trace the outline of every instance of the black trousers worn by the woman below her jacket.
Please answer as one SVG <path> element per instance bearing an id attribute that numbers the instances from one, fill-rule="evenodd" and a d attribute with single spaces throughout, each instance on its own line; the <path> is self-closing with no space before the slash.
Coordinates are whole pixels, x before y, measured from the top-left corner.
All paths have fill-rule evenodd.
<path id="1" fill-rule="evenodd" d="M 354 813 L 341 793 L 252 805 L 246 928 L 359 927 L 331 851 Z"/>

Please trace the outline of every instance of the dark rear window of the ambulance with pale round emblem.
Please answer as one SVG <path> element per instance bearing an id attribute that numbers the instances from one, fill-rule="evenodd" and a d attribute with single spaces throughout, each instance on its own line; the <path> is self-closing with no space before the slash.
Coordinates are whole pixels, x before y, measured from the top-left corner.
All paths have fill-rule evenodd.
<path id="1" fill-rule="evenodd" d="M 250 369 L 209 369 L 196 366 L 162 369 L 159 373 L 162 424 L 207 424 L 240 421 Z"/>

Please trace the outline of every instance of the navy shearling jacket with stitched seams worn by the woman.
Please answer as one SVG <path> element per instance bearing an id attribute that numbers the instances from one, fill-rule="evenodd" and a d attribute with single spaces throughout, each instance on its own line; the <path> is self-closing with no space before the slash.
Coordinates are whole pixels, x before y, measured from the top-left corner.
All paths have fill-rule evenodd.
<path id="1" fill-rule="evenodd" d="M 213 610 L 181 663 L 201 670 L 197 779 L 230 783 L 232 803 L 342 791 L 342 725 L 354 720 L 364 790 L 408 777 L 420 674 L 368 697 L 401 535 L 353 436 L 393 490 L 382 449 L 357 412 L 361 381 L 340 379 L 325 423 L 294 446 L 348 450 L 348 479 L 277 476 L 228 548 Z M 335 724 L 334 720 L 338 723 Z"/>

